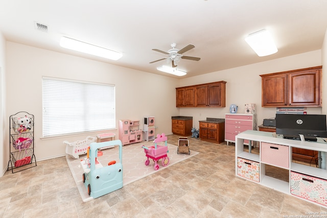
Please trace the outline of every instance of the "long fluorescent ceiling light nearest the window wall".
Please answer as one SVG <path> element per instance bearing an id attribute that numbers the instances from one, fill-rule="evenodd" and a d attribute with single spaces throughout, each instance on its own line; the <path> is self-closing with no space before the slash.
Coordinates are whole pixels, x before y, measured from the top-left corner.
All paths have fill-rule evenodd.
<path id="1" fill-rule="evenodd" d="M 75 39 L 61 37 L 60 39 L 60 46 L 66 49 L 75 50 L 78 52 L 83 52 L 91 55 L 96 55 L 99 57 L 104 57 L 111 60 L 118 60 L 120 59 L 123 54 L 119 52 L 115 52 L 109 49 L 104 49 L 98 46 L 94 46 L 82 41 L 78 41 Z"/>

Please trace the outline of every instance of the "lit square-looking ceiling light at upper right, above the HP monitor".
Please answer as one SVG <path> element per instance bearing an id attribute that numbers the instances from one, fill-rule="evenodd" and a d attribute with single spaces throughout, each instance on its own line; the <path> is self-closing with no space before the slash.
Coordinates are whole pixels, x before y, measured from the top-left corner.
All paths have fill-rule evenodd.
<path id="1" fill-rule="evenodd" d="M 274 40 L 267 30 L 252 33 L 245 38 L 245 41 L 259 57 L 271 55 L 278 51 Z"/>

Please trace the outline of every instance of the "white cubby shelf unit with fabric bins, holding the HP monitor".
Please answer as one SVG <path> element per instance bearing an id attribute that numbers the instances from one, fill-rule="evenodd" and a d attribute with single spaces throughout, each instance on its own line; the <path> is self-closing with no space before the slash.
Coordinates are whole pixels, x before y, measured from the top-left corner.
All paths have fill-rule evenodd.
<path id="1" fill-rule="evenodd" d="M 259 142 L 260 154 L 252 154 L 244 150 L 245 140 Z M 318 151 L 321 160 L 319 162 L 319 168 L 292 162 L 292 147 Z M 318 138 L 317 142 L 304 142 L 283 139 L 282 137 L 276 136 L 274 133 L 246 130 L 236 136 L 236 176 L 286 194 L 292 194 L 292 196 L 327 208 L 327 192 L 316 188 L 317 183 L 327 183 L 325 152 L 327 152 L 327 143 L 321 138 Z M 255 162 L 255 166 L 251 166 L 253 162 Z M 288 171 L 289 182 L 266 176 L 267 165 Z M 240 170 L 242 167 L 249 170 L 242 171 Z M 295 182 L 293 181 L 293 177 L 291 178 L 291 175 L 294 176 L 297 173 L 302 175 L 303 179 Z M 301 184 L 298 185 L 298 183 L 303 183 L 303 186 Z M 312 190 L 310 190 L 311 187 Z M 312 193 L 318 192 L 318 197 L 310 196 L 311 191 Z"/>

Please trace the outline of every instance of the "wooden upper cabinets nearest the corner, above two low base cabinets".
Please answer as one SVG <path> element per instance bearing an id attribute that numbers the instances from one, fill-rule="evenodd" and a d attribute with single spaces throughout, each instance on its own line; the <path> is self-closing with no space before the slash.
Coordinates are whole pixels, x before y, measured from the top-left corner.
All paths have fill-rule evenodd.
<path id="1" fill-rule="evenodd" d="M 176 107 L 225 107 L 225 81 L 176 88 Z"/>

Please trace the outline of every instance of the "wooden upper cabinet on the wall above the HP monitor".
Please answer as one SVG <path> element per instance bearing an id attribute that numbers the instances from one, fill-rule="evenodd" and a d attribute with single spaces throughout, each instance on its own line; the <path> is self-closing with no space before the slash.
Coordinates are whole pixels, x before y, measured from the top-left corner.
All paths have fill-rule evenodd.
<path id="1" fill-rule="evenodd" d="M 260 75 L 263 107 L 321 106 L 321 66 Z"/>

